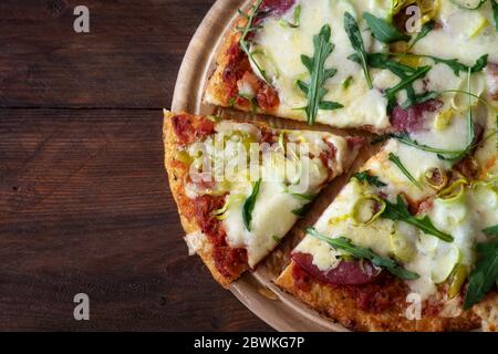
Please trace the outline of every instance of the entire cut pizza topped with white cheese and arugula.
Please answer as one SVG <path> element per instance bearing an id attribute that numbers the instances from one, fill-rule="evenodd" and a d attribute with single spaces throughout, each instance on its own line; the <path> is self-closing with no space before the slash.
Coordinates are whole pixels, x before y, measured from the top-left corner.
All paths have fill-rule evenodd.
<path id="1" fill-rule="evenodd" d="M 295 214 L 313 211 L 282 177 L 193 186 L 190 144 L 239 132 L 247 145 L 258 131 L 250 142 L 269 139 L 286 165 L 297 159 L 284 145 L 307 143 L 305 159 L 328 171 L 299 195 L 351 178 L 304 228 L 278 287 L 355 331 L 496 331 L 498 2 L 256 0 L 236 22 L 207 104 L 373 133 L 378 148 L 353 171 L 357 138 L 167 113 L 166 166 L 190 250 L 227 287 L 279 246 Z"/>

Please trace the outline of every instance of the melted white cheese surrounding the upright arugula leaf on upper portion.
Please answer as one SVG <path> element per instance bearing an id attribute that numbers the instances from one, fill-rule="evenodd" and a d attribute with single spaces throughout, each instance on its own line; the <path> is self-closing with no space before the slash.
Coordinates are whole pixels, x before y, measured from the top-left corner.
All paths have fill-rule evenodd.
<path id="1" fill-rule="evenodd" d="M 256 60 L 263 69 L 270 83 L 277 88 L 280 97 L 278 114 L 304 119 L 300 108 L 307 105 L 308 98 L 295 85 L 297 80 L 309 81 L 310 73 L 301 62 L 301 55 L 313 56 L 313 35 L 318 34 L 324 24 L 332 30 L 331 42 L 335 45 L 325 62 L 325 67 L 335 67 L 338 73 L 329 79 L 324 87 L 328 94 L 325 101 L 335 101 L 345 107 L 336 111 L 319 111 L 317 122 L 338 127 L 373 126 L 377 129 L 388 127 L 386 114 L 387 101 L 377 90 L 369 90 L 362 67 L 347 59 L 355 51 L 344 31 L 345 12 L 353 15 L 370 11 L 377 15 L 385 13 L 385 8 L 378 7 L 378 1 L 365 0 L 307 0 L 300 1 L 301 21 L 299 28 L 281 25 L 280 19 L 270 18 L 262 24 L 253 42 L 252 50 L 258 54 Z M 292 13 L 292 10 L 289 11 Z M 360 18 L 362 29 L 365 28 Z M 378 42 L 367 31 L 362 31 L 365 48 L 373 49 Z M 375 72 L 375 71 L 373 71 Z M 349 88 L 343 82 L 351 77 Z M 398 79 L 396 77 L 394 83 Z"/>

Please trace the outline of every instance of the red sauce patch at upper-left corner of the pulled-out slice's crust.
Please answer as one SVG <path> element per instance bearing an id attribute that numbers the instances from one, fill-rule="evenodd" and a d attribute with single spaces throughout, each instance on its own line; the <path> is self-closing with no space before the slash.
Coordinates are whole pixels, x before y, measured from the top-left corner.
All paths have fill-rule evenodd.
<path id="1" fill-rule="evenodd" d="M 187 114 L 175 115 L 172 118 L 173 128 L 179 144 L 191 144 L 215 133 L 215 123 L 206 117 L 195 119 Z"/>

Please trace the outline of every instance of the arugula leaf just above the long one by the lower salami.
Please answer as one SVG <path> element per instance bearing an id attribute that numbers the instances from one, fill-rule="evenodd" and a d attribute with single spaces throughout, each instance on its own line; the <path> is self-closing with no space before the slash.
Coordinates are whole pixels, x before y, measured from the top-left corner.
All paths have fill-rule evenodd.
<path id="1" fill-rule="evenodd" d="M 454 238 L 443 231 L 436 229 L 430 219 L 425 216 L 423 218 L 414 217 L 409 214 L 408 207 L 402 196 L 397 196 L 397 202 L 393 204 L 385 200 L 385 210 L 381 215 L 381 218 L 393 220 L 393 221 L 404 221 L 409 223 L 427 235 L 432 235 L 442 239 L 446 242 L 453 242 Z"/>

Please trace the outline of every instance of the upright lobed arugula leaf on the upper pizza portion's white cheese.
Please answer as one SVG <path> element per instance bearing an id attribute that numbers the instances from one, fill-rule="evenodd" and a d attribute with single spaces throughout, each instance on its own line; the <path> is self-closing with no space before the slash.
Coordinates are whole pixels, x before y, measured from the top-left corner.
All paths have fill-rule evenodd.
<path id="1" fill-rule="evenodd" d="M 307 112 L 308 124 L 313 124 L 319 108 L 332 111 L 342 108 L 343 105 L 336 102 L 322 101 L 326 94 L 323 84 L 338 72 L 335 69 L 325 69 L 325 61 L 334 50 L 334 44 L 330 42 L 331 29 L 329 24 L 322 27 L 319 34 L 313 37 L 314 56 L 301 55 L 302 64 L 311 74 L 310 84 L 298 81 L 298 87 L 308 96 Z"/>

